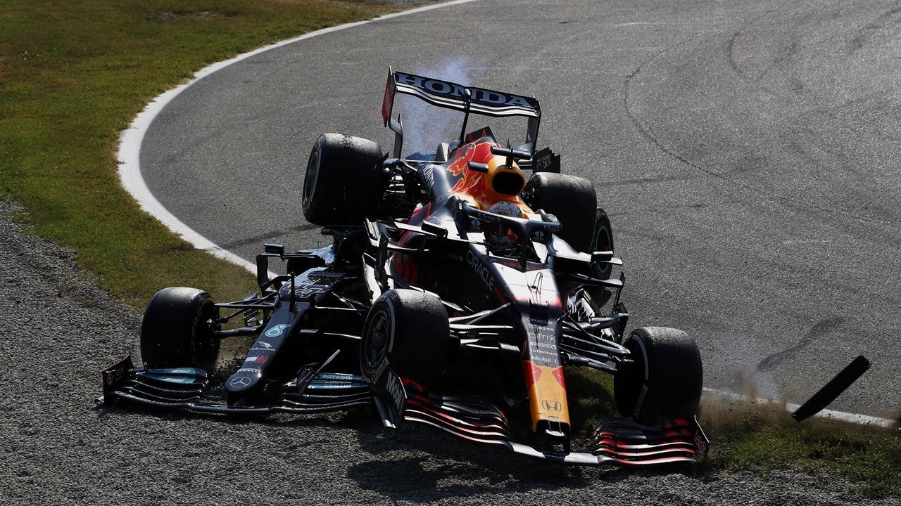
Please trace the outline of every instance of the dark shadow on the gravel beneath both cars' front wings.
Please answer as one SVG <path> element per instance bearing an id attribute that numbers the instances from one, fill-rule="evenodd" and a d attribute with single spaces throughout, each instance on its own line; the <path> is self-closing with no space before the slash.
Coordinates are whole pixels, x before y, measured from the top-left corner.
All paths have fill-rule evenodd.
<path id="1" fill-rule="evenodd" d="M 385 429 L 371 408 L 260 417 L 134 409 L 117 403 L 101 409 L 97 419 L 101 422 L 119 419 L 121 423 L 115 425 L 150 430 L 148 433 L 203 425 L 208 433 L 219 434 L 217 438 L 234 437 L 234 430 L 225 426 L 249 426 L 246 431 L 249 434 L 259 433 L 260 426 L 266 427 L 263 431 L 269 441 L 284 444 L 286 462 L 303 461 L 311 452 L 321 454 L 333 450 L 332 459 L 347 463 L 347 479 L 360 489 L 393 501 L 428 502 L 481 493 L 587 490 L 598 484 L 674 473 L 704 479 L 699 475 L 704 473 L 691 466 L 636 470 L 560 465 L 517 456 L 500 447 L 461 441 L 414 423 L 406 423 L 398 430 Z M 202 423 L 195 424 L 192 420 Z M 217 425 L 221 428 L 215 429 Z M 341 443 L 348 437 L 355 437 L 356 444 Z"/>

